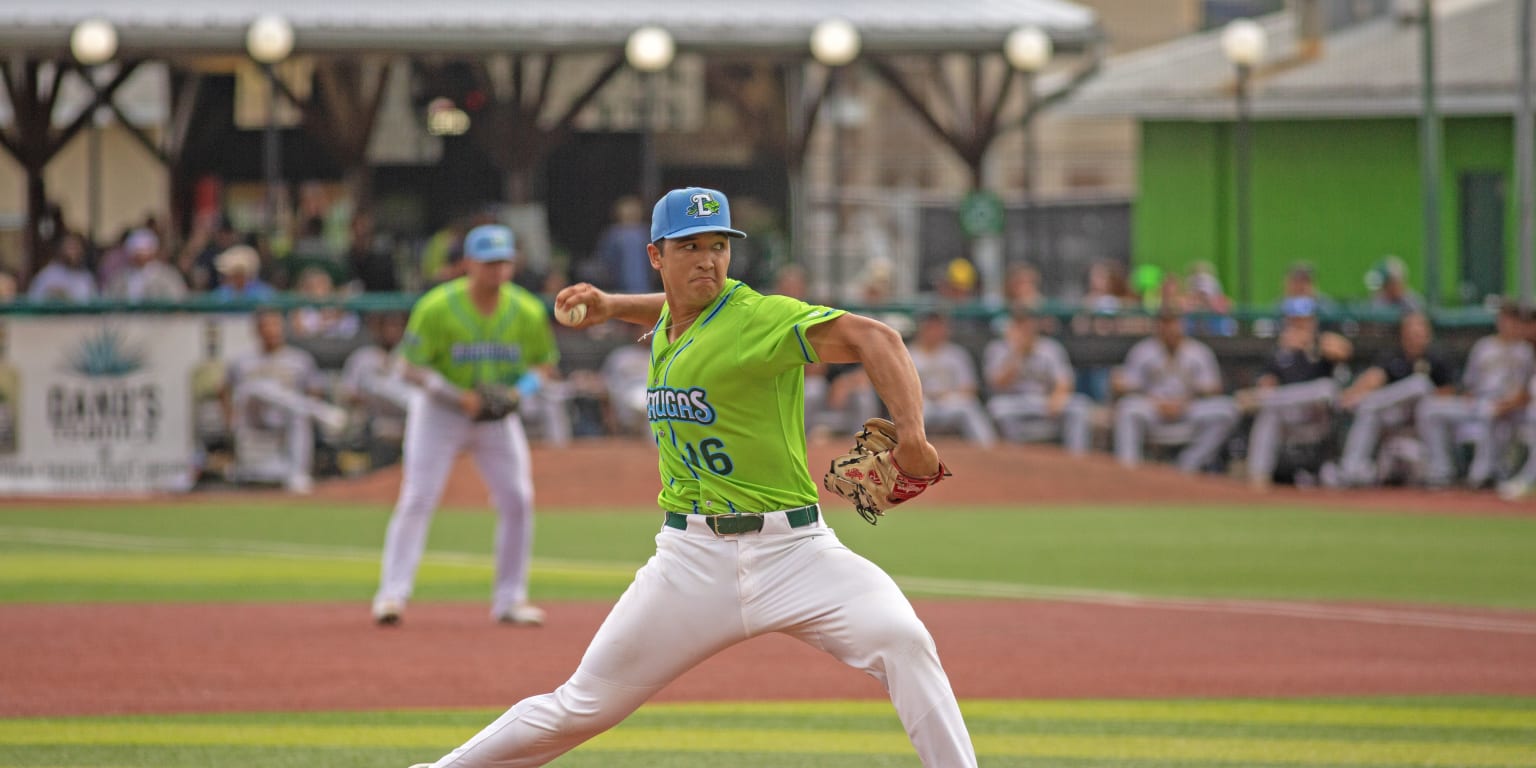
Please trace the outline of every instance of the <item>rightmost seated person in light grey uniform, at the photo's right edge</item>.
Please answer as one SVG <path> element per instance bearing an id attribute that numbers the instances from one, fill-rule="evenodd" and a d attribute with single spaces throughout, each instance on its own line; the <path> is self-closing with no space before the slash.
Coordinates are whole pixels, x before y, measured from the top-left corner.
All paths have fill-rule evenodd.
<path id="1" fill-rule="evenodd" d="M 1424 441 L 1424 481 L 1430 487 L 1452 484 L 1456 475 L 1452 450 L 1461 442 L 1473 444 L 1467 485 L 1481 488 L 1496 479 L 1498 461 L 1531 398 L 1528 384 L 1536 359 L 1525 324 L 1521 309 L 1505 303 L 1496 332 L 1478 339 L 1467 353 L 1461 393 L 1419 401 L 1415 418 Z"/>

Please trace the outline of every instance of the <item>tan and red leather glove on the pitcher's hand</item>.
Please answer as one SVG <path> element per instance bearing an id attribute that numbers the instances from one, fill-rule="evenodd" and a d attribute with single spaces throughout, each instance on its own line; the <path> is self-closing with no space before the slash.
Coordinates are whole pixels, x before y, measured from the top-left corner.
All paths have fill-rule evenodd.
<path id="1" fill-rule="evenodd" d="M 895 424 L 886 419 L 866 421 L 863 430 L 854 435 L 852 450 L 833 459 L 822 487 L 851 501 L 859 516 L 874 525 L 885 510 L 915 498 L 951 475 L 942 461 L 938 472 L 929 478 L 908 475 L 891 456 L 892 449 Z"/>

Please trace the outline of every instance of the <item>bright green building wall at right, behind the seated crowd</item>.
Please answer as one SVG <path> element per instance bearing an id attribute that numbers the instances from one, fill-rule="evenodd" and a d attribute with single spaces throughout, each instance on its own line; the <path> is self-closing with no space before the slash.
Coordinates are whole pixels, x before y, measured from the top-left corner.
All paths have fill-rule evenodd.
<path id="1" fill-rule="evenodd" d="M 1292 261 L 1318 266 L 1322 292 L 1364 298 L 1384 255 L 1409 264 L 1424 290 L 1419 137 L 1413 118 L 1261 120 L 1252 144 L 1253 300 L 1273 301 Z M 1232 123 L 1141 123 L 1140 195 L 1132 214 L 1137 264 L 1217 264 L 1236 295 Z M 1513 132 L 1507 117 L 1444 121 L 1441 292 L 1459 301 L 1462 177 L 1502 174 L 1504 284 L 1518 275 Z"/>

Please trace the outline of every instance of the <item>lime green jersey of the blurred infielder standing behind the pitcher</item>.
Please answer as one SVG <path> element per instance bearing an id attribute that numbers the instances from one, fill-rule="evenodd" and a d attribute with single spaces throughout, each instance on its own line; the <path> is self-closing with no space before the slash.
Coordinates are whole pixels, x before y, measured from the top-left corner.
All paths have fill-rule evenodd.
<path id="1" fill-rule="evenodd" d="M 444 283 L 410 310 L 401 355 L 442 373 L 453 386 L 515 384 L 533 366 L 559 361 L 544 303 L 507 283 L 496 312 L 481 315 L 468 278 Z"/>

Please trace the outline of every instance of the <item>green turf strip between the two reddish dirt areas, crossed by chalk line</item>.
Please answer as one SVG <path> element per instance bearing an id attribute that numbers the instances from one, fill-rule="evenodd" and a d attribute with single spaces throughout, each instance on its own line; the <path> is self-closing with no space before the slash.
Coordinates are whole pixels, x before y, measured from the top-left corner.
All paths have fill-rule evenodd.
<path id="1" fill-rule="evenodd" d="M 389 510 L 290 502 L 0 508 L 0 602 L 366 601 Z M 914 508 L 839 535 L 912 594 L 1389 601 L 1536 608 L 1536 519 L 1292 507 Z M 533 596 L 613 599 L 647 510 L 538 516 Z M 438 515 L 419 599 L 482 599 L 487 513 Z"/>

